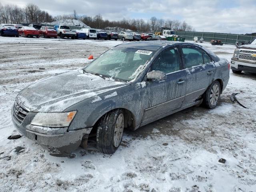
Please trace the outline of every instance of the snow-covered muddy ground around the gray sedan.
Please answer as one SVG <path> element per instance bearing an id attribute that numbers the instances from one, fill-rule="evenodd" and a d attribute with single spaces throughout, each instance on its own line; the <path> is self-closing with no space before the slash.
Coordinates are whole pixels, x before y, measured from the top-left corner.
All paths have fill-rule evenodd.
<path id="1" fill-rule="evenodd" d="M 122 41 L 0 36 L 0 191 L 255 192 L 256 75 L 230 72 L 214 110 L 192 107 L 134 132 L 113 155 L 79 148 L 49 155 L 14 131 L 10 109 L 31 82 L 79 68 Z M 230 60 L 235 46 L 201 44 Z M 44 68 L 44 69 L 39 69 Z M 249 109 L 230 101 L 238 100 Z M 18 147 L 18 148 L 17 148 Z M 21 147 L 21 148 L 19 148 Z M 218 162 L 220 158 L 226 163 Z"/>

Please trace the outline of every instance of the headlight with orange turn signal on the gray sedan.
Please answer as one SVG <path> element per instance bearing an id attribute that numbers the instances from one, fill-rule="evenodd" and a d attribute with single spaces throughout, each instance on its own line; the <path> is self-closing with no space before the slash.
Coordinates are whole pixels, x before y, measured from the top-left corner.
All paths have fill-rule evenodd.
<path id="1" fill-rule="evenodd" d="M 31 124 L 43 127 L 68 127 L 76 111 L 65 113 L 38 113 Z"/>

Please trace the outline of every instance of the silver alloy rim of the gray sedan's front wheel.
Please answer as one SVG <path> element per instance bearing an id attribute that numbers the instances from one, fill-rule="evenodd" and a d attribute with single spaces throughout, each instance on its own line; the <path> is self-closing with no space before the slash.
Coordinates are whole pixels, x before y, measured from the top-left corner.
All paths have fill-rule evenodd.
<path id="1" fill-rule="evenodd" d="M 124 132 L 124 115 L 120 113 L 116 118 L 116 124 L 114 129 L 114 146 L 118 147 L 122 140 Z"/>

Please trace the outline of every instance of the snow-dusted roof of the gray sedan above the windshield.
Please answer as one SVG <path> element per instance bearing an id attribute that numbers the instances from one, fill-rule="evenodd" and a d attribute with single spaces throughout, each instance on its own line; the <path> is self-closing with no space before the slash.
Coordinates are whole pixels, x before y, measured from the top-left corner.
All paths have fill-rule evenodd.
<path id="1" fill-rule="evenodd" d="M 174 41 L 140 41 L 140 42 L 129 42 L 123 43 L 118 46 L 120 47 L 127 47 L 127 48 L 138 48 L 138 49 L 149 49 L 149 50 L 158 50 L 159 48 L 166 46 L 166 45 L 193 45 L 199 46 L 198 44 L 189 43 L 189 42 L 174 42 Z"/>

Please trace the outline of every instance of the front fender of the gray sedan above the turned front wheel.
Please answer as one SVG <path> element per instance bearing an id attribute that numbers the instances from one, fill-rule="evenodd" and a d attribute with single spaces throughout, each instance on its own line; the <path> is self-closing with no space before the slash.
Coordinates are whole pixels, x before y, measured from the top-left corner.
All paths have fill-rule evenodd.
<path id="1" fill-rule="evenodd" d="M 83 100 L 65 110 L 77 110 L 68 131 L 92 127 L 104 114 L 117 108 L 129 110 L 134 117 L 133 124 L 138 126 L 143 115 L 141 100 L 138 84 L 130 84 Z"/>

